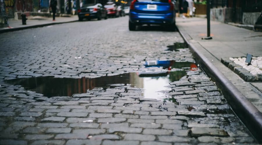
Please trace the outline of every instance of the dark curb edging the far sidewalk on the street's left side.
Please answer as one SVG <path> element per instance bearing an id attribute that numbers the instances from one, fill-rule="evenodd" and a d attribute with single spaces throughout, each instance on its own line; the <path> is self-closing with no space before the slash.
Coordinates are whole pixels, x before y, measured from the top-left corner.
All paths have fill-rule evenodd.
<path id="1" fill-rule="evenodd" d="M 67 21 L 67 22 L 55 22 L 55 23 L 46 23 L 46 24 L 40 24 L 40 25 L 32 25 L 32 26 L 25 26 L 25 27 L 18 27 L 18 28 L 10 28 L 10 29 L 3 29 L 0 30 L 1 33 L 5 32 L 13 32 L 13 31 L 18 31 L 18 30 L 24 30 L 24 29 L 29 29 L 29 28 L 37 28 L 37 27 L 44 27 L 44 26 L 50 26 L 50 25 L 56 25 L 56 24 L 62 24 L 62 23 L 72 23 L 76 22 L 78 20 L 73 20 L 73 21 Z"/>

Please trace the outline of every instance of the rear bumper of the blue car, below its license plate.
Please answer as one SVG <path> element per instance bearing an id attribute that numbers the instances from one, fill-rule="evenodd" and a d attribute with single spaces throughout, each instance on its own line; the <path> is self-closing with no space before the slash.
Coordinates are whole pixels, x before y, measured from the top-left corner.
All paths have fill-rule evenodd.
<path id="1" fill-rule="evenodd" d="M 175 14 L 138 14 L 136 12 L 129 13 L 129 21 L 137 24 L 173 24 L 175 23 Z"/>

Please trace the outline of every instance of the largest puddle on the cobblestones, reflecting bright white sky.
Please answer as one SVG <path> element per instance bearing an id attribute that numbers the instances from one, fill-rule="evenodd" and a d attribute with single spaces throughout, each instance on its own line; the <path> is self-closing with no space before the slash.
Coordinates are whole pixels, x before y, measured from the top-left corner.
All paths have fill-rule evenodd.
<path id="1" fill-rule="evenodd" d="M 86 93 L 93 88 L 114 88 L 116 86 L 108 84 L 123 84 L 125 86 L 144 88 L 141 93 L 145 98 L 164 100 L 164 92 L 171 91 L 170 82 L 178 81 L 186 75 L 186 69 L 195 68 L 191 62 L 176 62 L 166 66 L 168 70 L 163 72 L 146 73 L 125 73 L 115 76 L 105 76 L 98 78 L 54 78 L 54 77 L 31 77 L 6 80 L 5 82 L 13 85 L 21 85 L 27 90 L 41 93 L 46 97 L 72 96 L 77 93 Z M 184 68 L 184 70 L 180 69 Z M 178 69 L 178 71 L 172 71 Z M 166 90 L 166 91 L 163 91 Z M 161 92 L 158 92 L 161 91 Z M 171 101 L 171 100 L 170 100 Z"/>

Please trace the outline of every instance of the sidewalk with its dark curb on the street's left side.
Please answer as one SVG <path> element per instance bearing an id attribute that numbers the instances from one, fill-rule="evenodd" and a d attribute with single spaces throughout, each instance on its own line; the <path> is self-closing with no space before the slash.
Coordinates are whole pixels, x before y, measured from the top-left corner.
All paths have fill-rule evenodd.
<path id="1" fill-rule="evenodd" d="M 78 21 L 78 16 L 73 15 L 71 17 L 56 17 L 56 21 L 52 21 L 52 16 L 50 17 L 28 17 L 26 20 L 26 25 L 22 25 L 22 20 L 15 20 L 15 19 L 9 19 L 8 23 L 10 28 L 0 28 L 0 33 L 3 32 L 10 32 L 10 31 L 16 31 L 16 30 L 22 30 L 27 28 L 36 28 L 36 27 L 43 27 L 53 24 L 60 24 L 60 23 L 70 23 Z"/>

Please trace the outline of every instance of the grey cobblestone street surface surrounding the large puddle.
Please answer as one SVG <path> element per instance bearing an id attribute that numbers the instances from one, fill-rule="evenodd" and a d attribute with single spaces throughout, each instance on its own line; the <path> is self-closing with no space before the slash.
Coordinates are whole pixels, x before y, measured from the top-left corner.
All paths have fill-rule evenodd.
<path id="1" fill-rule="evenodd" d="M 182 68 L 187 75 L 165 86 L 162 100 L 130 84 L 47 97 L 6 82 L 166 71 L 143 64 L 194 63 L 188 48 L 167 51 L 183 42 L 161 27 L 129 31 L 128 17 L 0 34 L 0 144 L 257 144 L 200 68 Z"/>

